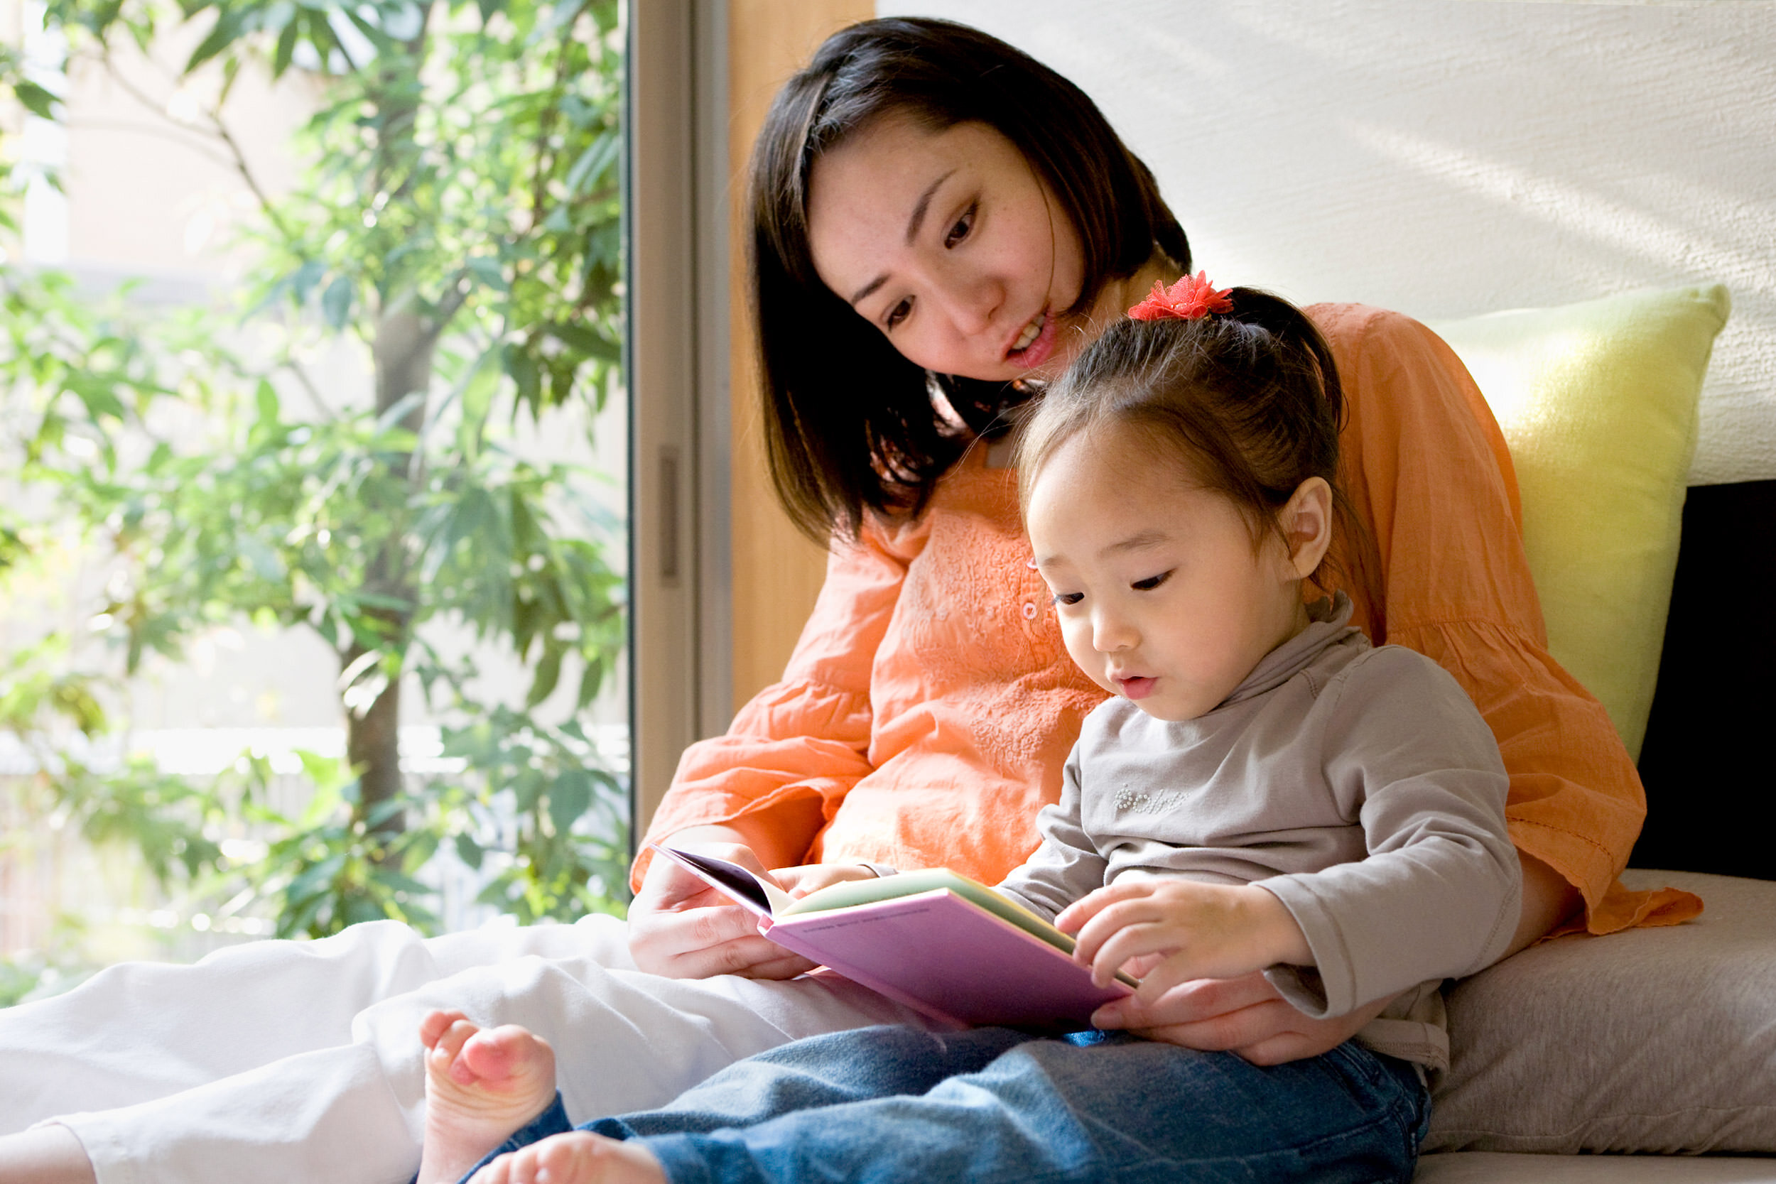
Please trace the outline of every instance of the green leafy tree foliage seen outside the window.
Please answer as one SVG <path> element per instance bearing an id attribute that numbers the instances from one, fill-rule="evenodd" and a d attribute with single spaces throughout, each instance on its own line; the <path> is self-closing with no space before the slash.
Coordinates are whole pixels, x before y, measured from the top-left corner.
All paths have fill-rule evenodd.
<path id="1" fill-rule="evenodd" d="M 69 538 L 110 570 L 89 614 L 110 644 L 52 632 L 0 655 L 0 728 L 37 754 L 43 808 L 131 845 L 163 884 L 270 911 L 281 935 L 428 927 L 423 868 L 449 845 L 494 859 L 485 898 L 522 921 L 622 907 L 627 786 L 575 722 L 622 651 L 618 543 L 599 533 L 597 474 L 511 447 L 520 426 L 586 430 L 620 382 L 618 18 L 614 0 L 50 0 L 87 67 L 204 28 L 185 71 L 222 83 L 183 130 L 259 197 L 256 279 L 227 318 L 155 318 L 0 268 L 0 479 L 23 492 L 0 509 L 0 596 Z M 286 197 L 231 133 L 243 69 L 323 83 Z M 55 117 L 16 55 L 0 71 Z M 329 337 L 361 343 L 369 405 L 305 373 Z M 194 412 L 201 433 L 165 428 Z M 272 806 L 263 760 L 220 781 L 99 772 L 60 742 L 117 722 L 146 653 L 240 620 L 314 630 L 337 655 L 346 758 L 304 758 L 305 813 Z M 485 701 L 437 623 L 520 655 L 526 701 Z M 444 749 L 462 774 L 401 774 L 403 683 L 458 721 Z M 545 719 L 563 698 L 567 719 Z M 263 856 L 227 857 L 238 834 Z"/>

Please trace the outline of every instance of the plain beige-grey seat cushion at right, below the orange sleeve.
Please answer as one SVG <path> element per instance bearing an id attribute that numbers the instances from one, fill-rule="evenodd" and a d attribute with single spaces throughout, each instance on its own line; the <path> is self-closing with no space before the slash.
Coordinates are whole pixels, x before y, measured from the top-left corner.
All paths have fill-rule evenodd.
<path id="1" fill-rule="evenodd" d="M 1547 941 L 1451 987 L 1426 1150 L 1776 1152 L 1776 882 L 1621 879 L 1707 911 Z"/>

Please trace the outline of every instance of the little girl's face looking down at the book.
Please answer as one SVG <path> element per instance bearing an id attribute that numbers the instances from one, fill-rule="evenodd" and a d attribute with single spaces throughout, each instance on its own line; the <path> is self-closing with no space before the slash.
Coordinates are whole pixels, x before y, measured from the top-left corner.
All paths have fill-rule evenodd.
<path id="1" fill-rule="evenodd" d="M 1254 550 L 1231 499 L 1151 454 L 1124 430 L 1073 437 L 1037 474 L 1025 525 L 1080 669 L 1154 719 L 1195 719 L 1307 627 L 1300 564 L 1325 549 L 1291 557 L 1265 531 Z M 1284 531 L 1318 531 L 1295 506 Z"/>

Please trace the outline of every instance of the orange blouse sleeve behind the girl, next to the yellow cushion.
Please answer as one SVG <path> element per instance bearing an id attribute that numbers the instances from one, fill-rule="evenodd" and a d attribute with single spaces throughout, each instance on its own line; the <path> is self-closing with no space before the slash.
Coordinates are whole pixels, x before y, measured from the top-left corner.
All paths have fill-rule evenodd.
<path id="1" fill-rule="evenodd" d="M 1396 312 L 1311 312 L 1344 385 L 1344 492 L 1373 533 L 1369 554 L 1359 545 L 1344 561 L 1359 623 L 1428 655 L 1472 696 L 1511 777 L 1511 841 L 1579 889 L 1586 930 L 1696 916 L 1691 893 L 1616 880 L 1646 797 L 1604 706 L 1547 651 L 1517 474 L 1462 360 Z"/>

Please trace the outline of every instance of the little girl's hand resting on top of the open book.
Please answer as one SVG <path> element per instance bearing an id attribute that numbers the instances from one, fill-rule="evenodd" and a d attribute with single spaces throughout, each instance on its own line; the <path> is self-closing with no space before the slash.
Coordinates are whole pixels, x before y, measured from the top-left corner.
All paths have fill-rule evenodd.
<path id="1" fill-rule="evenodd" d="M 1055 918 L 1074 934 L 1073 960 L 1108 987 L 1124 964 L 1146 975 L 1140 998 L 1156 1001 L 1193 978 L 1236 978 L 1277 962 L 1311 966 L 1312 951 L 1282 902 L 1252 884 L 1122 879 L 1074 900 Z"/>

